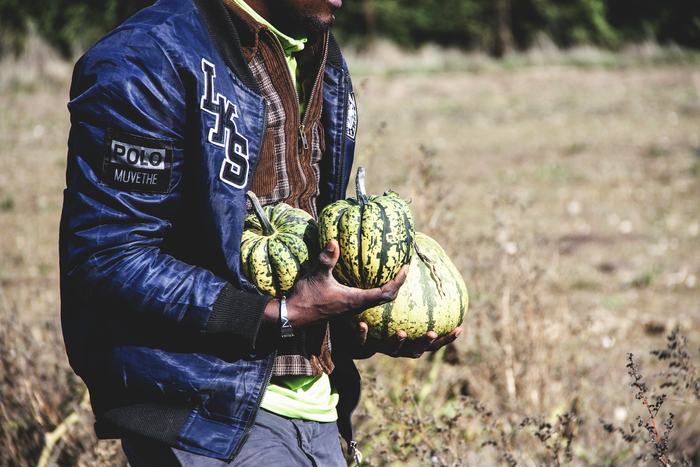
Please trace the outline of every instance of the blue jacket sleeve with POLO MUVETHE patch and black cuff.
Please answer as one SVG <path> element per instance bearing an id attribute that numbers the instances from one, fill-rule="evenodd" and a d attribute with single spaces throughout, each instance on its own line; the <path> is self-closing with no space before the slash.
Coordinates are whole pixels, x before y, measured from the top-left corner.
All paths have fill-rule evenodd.
<path id="1" fill-rule="evenodd" d="M 198 157 L 187 153 L 186 105 L 176 65 L 146 32 L 112 35 L 77 63 L 59 240 L 62 294 L 133 313 L 137 323 L 230 333 L 254 346 L 271 297 L 238 290 L 165 247 L 181 207 L 183 171 Z"/>

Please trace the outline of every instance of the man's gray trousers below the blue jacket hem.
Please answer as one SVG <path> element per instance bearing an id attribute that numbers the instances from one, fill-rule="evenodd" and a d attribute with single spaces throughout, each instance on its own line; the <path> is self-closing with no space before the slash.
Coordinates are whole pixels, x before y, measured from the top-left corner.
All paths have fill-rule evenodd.
<path id="1" fill-rule="evenodd" d="M 347 467 L 335 422 L 280 417 L 260 409 L 243 449 L 230 464 L 145 438 L 124 438 L 131 467 Z"/>

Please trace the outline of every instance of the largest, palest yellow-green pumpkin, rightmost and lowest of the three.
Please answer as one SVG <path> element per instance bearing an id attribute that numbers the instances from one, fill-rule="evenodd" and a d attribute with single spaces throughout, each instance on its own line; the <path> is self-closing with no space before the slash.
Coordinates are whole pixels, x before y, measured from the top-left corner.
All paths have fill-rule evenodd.
<path id="1" fill-rule="evenodd" d="M 417 254 L 396 300 L 353 316 L 353 327 L 364 321 L 370 336 L 380 340 L 403 329 L 413 340 L 428 331 L 443 336 L 462 324 L 469 298 L 461 274 L 435 240 L 416 232 L 416 244 Z"/>

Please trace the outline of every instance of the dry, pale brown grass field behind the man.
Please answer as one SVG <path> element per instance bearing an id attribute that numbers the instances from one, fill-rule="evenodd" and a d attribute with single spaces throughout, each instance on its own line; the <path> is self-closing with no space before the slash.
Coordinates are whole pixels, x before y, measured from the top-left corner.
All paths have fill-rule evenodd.
<path id="1" fill-rule="evenodd" d="M 411 198 L 470 292 L 454 345 L 360 362 L 363 465 L 700 465 L 700 67 L 588 53 L 348 57 L 368 192 Z M 50 69 L 0 76 L 0 465 L 59 427 L 42 465 L 123 466 L 63 355 Z"/>

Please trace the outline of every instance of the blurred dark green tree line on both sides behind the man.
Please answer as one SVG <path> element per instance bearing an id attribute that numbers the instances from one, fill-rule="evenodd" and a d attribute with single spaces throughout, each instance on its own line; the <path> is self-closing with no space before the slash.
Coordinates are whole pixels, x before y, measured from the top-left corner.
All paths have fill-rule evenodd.
<path id="1" fill-rule="evenodd" d="M 0 53 L 32 31 L 64 55 L 85 50 L 152 0 L 0 0 Z M 414 48 L 432 42 L 502 56 L 546 37 L 561 48 L 654 40 L 700 48 L 700 0 L 346 0 L 336 34 Z"/>

